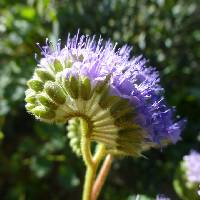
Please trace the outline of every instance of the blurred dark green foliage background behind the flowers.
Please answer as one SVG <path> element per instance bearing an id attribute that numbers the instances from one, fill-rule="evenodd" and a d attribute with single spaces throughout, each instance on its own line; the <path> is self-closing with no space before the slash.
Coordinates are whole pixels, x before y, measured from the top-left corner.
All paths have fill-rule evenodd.
<path id="1" fill-rule="evenodd" d="M 0 199 L 81 198 L 85 167 L 68 146 L 66 128 L 36 121 L 24 108 L 26 81 L 43 44 L 67 33 L 102 35 L 157 66 L 166 98 L 187 117 L 183 139 L 147 159 L 117 160 L 99 199 L 134 194 L 176 196 L 175 169 L 190 149 L 200 150 L 200 3 L 198 0 L 0 1 Z"/>

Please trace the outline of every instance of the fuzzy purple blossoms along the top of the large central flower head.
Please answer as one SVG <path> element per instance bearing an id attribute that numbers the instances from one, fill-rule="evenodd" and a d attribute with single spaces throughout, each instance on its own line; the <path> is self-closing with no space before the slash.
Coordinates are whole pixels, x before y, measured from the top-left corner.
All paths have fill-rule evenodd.
<path id="1" fill-rule="evenodd" d="M 174 109 L 167 106 L 158 71 L 148 67 L 142 56 L 131 58 L 130 47 L 117 49 L 110 41 L 100 38 L 95 42 L 95 37 L 77 34 L 73 38 L 69 36 L 62 49 L 60 41 L 53 48 L 47 42 L 41 49 L 44 57 L 38 64 L 40 67 L 55 59 L 63 64 L 71 63 L 64 70 L 66 78 L 86 76 L 95 85 L 109 76 L 111 94 L 129 100 L 136 112 L 133 122 L 145 130 L 147 142 L 162 145 L 180 139 L 185 121 L 177 121 Z"/>

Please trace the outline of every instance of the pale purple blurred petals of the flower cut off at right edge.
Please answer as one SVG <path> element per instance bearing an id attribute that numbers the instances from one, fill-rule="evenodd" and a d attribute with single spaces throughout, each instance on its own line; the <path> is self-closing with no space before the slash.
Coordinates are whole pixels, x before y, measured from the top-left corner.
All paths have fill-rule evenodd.
<path id="1" fill-rule="evenodd" d="M 189 155 L 183 157 L 188 181 L 200 183 L 200 153 L 191 151 Z"/>

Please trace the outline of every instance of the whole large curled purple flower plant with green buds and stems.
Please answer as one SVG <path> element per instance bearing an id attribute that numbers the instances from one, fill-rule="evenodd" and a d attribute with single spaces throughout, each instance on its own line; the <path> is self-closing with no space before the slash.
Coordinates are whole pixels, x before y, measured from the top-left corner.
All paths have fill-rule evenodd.
<path id="1" fill-rule="evenodd" d="M 70 146 L 87 166 L 84 200 L 97 199 L 113 157 L 138 157 L 180 139 L 184 121 L 166 105 L 158 72 L 142 56 L 130 58 L 130 47 L 77 34 L 63 48 L 60 41 L 40 48 L 26 109 L 44 122 L 68 122 Z"/>

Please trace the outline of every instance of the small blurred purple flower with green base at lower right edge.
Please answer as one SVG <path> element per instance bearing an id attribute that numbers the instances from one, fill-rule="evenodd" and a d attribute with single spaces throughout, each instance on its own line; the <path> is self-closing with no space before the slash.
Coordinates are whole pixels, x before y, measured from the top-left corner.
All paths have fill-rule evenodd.
<path id="1" fill-rule="evenodd" d="M 200 153 L 192 150 L 185 155 L 177 169 L 174 188 L 184 200 L 200 199 Z"/>

